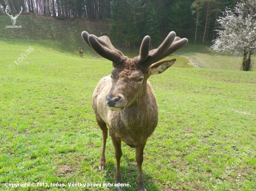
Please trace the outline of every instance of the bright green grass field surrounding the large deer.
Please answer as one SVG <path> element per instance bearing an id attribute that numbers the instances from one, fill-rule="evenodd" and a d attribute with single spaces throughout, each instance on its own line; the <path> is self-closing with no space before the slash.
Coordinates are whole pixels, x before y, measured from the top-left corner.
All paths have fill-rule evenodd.
<path id="1" fill-rule="evenodd" d="M 30 46 L 34 50 L 17 61 Z M 58 44 L 43 40 L 1 40 L 0 52 L 0 190 L 115 191 L 68 186 L 115 183 L 110 137 L 106 169 L 98 171 L 102 137 L 91 108 L 94 88 L 111 72 L 111 62 L 89 59 L 91 52 L 80 57 L 59 51 Z M 144 149 L 148 191 L 256 190 L 256 72 L 233 67 L 169 68 L 149 78 L 159 123 Z M 135 150 L 122 145 L 122 178 L 131 185 L 123 190 L 136 191 Z"/>

